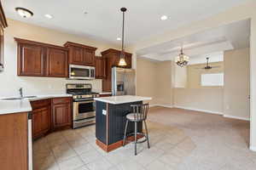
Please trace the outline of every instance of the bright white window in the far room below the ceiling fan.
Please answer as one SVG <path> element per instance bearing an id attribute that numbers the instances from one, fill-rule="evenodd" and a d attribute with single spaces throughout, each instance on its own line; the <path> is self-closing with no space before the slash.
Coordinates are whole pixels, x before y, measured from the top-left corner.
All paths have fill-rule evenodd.
<path id="1" fill-rule="evenodd" d="M 201 86 L 224 86 L 224 73 L 202 74 Z"/>

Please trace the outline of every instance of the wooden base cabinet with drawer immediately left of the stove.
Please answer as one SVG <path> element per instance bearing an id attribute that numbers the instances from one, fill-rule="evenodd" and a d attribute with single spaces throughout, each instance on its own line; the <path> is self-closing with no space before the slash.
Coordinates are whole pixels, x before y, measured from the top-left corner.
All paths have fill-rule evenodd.
<path id="1" fill-rule="evenodd" d="M 72 99 L 52 99 L 52 127 L 53 130 L 72 126 Z"/>

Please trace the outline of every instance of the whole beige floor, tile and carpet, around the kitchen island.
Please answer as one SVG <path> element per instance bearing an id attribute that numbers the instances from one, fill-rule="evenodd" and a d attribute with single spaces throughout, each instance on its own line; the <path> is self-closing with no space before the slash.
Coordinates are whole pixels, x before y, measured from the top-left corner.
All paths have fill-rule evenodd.
<path id="1" fill-rule="evenodd" d="M 133 144 L 106 153 L 95 144 L 95 126 L 70 129 L 33 144 L 34 170 L 253 170 L 256 154 L 247 149 L 247 122 L 177 109 L 152 108 L 151 148 Z"/>

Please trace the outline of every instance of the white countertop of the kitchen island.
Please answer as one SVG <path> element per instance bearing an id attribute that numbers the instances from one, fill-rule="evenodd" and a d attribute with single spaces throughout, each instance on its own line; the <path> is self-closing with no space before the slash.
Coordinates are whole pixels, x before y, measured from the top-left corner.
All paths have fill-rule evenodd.
<path id="1" fill-rule="evenodd" d="M 151 100 L 149 97 L 142 96 L 134 96 L 134 95 L 122 95 L 122 96 L 111 96 L 111 97 L 102 97 L 96 98 L 96 101 L 102 101 L 105 103 L 117 105 L 117 104 L 125 104 L 137 101 Z"/>

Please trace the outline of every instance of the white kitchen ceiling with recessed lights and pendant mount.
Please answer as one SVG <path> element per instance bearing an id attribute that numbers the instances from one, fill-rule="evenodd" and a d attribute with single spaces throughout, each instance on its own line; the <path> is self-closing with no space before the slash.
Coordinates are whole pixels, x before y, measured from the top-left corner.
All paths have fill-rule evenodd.
<path id="1" fill-rule="evenodd" d="M 128 46 L 247 1 L 249 0 L 4 0 L 2 2 L 8 18 L 113 44 L 119 44 L 116 38 L 121 37 L 122 14 L 119 8 L 126 7 L 128 11 L 125 15 L 125 43 Z M 21 18 L 15 12 L 16 7 L 32 10 L 33 17 Z M 54 18 L 49 20 L 44 14 L 51 14 Z M 163 14 L 169 19 L 160 20 Z"/>

